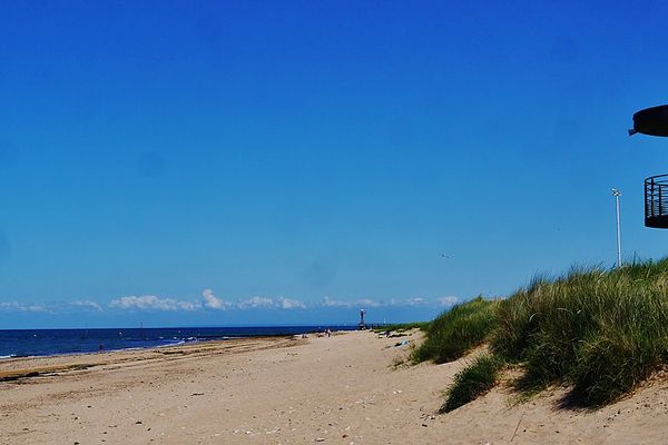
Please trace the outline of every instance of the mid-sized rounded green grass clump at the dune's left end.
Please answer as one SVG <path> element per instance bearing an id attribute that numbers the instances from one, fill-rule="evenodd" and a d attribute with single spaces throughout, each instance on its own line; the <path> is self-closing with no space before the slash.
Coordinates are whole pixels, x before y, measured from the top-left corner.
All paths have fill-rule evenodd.
<path id="1" fill-rule="evenodd" d="M 412 359 L 451 362 L 482 345 L 497 325 L 497 305 L 478 297 L 441 314 L 429 325 L 426 339 Z"/>

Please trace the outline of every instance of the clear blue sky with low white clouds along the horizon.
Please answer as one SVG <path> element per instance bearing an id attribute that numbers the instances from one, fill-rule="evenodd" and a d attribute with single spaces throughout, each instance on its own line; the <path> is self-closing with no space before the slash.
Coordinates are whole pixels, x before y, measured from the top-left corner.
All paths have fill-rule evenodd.
<path id="1" fill-rule="evenodd" d="M 667 16 L 6 1 L 0 327 L 430 318 L 612 265 L 611 187 L 625 255 L 661 257 L 668 140 L 626 129 L 668 101 Z"/>

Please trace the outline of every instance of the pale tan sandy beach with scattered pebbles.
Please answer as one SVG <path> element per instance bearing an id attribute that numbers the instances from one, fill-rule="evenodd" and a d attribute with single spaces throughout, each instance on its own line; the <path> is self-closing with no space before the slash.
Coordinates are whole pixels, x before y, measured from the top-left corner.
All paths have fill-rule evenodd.
<path id="1" fill-rule="evenodd" d="M 446 415 L 465 360 L 395 368 L 373 333 L 0 362 L 1 444 L 631 444 L 668 442 L 664 379 L 599 411 L 508 388 Z M 26 374 L 33 377 L 21 377 Z M 13 379 L 12 379 L 13 378 Z"/>

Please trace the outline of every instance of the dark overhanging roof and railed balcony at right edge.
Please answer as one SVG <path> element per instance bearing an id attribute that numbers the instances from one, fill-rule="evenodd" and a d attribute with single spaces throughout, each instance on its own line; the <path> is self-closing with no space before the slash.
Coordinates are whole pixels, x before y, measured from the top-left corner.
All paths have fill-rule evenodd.
<path id="1" fill-rule="evenodd" d="M 649 136 L 668 136 L 668 105 L 646 108 L 633 115 L 633 128 Z M 645 179 L 645 226 L 668 229 L 668 175 Z"/>

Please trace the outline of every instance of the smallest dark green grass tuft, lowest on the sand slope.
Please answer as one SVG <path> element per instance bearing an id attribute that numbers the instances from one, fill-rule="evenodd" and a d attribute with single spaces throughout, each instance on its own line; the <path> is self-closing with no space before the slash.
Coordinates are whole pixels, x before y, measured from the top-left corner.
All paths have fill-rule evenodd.
<path id="1" fill-rule="evenodd" d="M 481 354 L 462 372 L 454 376 L 454 383 L 446 392 L 441 413 L 450 413 L 474 400 L 494 387 L 503 360 L 491 354 Z"/>

